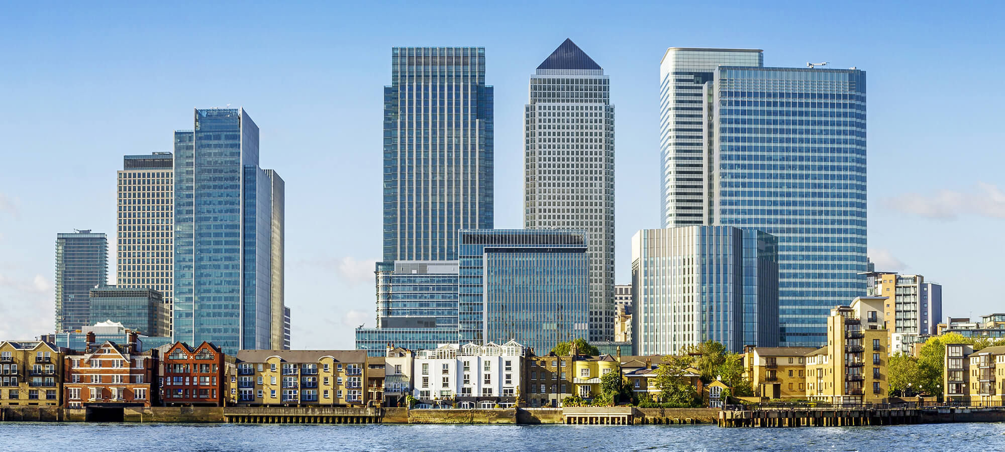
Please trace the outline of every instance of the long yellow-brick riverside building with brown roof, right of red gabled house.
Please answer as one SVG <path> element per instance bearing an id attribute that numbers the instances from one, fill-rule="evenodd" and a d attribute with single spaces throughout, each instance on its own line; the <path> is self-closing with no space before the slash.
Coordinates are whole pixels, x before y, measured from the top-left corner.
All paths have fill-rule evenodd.
<path id="1" fill-rule="evenodd" d="M 383 395 L 368 391 L 367 382 L 373 382 L 376 390 L 375 379 L 379 377 L 383 391 L 384 369 L 369 369 L 369 360 L 366 351 L 242 350 L 237 352 L 237 403 L 290 407 L 379 405 Z"/>

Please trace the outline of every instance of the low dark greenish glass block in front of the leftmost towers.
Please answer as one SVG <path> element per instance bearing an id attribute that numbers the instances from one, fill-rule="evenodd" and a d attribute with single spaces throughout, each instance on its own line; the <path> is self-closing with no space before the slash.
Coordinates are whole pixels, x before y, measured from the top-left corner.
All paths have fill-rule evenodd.
<path id="1" fill-rule="evenodd" d="M 91 321 L 116 321 L 146 335 L 171 335 L 164 294 L 149 287 L 99 285 L 90 289 Z"/>

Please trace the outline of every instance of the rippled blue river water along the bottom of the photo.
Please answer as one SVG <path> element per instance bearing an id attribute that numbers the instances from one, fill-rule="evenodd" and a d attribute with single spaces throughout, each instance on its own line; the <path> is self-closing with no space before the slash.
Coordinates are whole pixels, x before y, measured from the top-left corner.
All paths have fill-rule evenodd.
<path id="1" fill-rule="evenodd" d="M 888 427 L 0 423 L 11 451 L 1005 450 L 1005 423 Z"/>

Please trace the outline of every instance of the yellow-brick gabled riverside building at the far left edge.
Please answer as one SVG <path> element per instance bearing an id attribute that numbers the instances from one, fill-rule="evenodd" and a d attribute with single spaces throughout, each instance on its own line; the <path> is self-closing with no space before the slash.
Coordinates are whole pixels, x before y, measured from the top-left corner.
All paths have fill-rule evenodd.
<path id="1" fill-rule="evenodd" d="M 63 350 L 43 341 L 0 343 L 0 406 L 58 406 L 62 362 Z"/>

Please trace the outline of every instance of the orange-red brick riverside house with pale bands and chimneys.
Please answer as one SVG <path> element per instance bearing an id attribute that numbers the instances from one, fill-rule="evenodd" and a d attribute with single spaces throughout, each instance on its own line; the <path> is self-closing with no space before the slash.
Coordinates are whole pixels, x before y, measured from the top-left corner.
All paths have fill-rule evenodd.
<path id="1" fill-rule="evenodd" d="M 67 353 L 63 358 L 63 401 L 68 408 L 150 407 L 157 403 L 155 384 L 157 352 L 136 352 L 137 334 L 129 344 L 111 341 L 94 344 L 87 333 L 83 353 Z"/>

